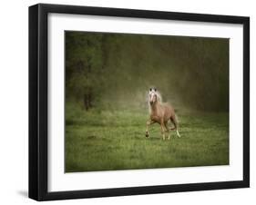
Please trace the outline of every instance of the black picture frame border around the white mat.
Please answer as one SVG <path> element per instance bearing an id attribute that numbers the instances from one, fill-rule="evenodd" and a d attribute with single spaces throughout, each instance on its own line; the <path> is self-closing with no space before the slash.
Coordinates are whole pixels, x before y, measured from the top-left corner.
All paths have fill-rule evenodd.
<path id="1" fill-rule="evenodd" d="M 47 190 L 47 16 L 50 13 L 122 16 L 148 19 L 243 25 L 243 180 L 118 189 Z M 200 15 L 76 5 L 29 7 L 29 198 L 67 200 L 191 190 L 250 187 L 250 18 L 230 15 Z"/>

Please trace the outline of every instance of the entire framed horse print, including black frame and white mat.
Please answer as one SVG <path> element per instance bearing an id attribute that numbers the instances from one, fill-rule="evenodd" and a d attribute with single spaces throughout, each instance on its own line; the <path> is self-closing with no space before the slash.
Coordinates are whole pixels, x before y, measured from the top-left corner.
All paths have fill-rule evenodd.
<path id="1" fill-rule="evenodd" d="M 250 187 L 250 17 L 29 6 L 34 200 Z"/>

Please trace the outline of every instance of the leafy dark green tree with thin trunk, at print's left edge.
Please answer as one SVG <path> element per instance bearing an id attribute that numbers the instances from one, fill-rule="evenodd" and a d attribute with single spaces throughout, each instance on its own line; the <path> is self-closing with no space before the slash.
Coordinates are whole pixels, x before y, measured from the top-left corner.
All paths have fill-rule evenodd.
<path id="1" fill-rule="evenodd" d="M 103 34 L 66 32 L 67 96 L 75 96 L 88 110 L 102 83 Z"/>

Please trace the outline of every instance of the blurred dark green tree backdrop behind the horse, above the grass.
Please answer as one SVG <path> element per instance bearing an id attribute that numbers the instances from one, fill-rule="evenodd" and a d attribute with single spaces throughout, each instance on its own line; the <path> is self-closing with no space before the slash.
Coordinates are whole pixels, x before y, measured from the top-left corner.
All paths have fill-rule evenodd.
<path id="1" fill-rule="evenodd" d="M 145 109 L 152 85 L 175 107 L 228 111 L 229 40 L 66 32 L 67 101 Z"/>

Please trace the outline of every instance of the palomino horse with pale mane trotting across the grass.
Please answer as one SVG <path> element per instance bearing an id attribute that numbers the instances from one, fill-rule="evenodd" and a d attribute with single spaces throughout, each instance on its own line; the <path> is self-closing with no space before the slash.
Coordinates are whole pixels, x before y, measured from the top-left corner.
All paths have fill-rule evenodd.
<path id="1" fill-rule="evenodd" d="M 147 121 L 146 128 L 146 137 L 148 137 L 148 125 L 158 122 L 161 126 L 162 138 L 165 140 L 165 130 L 168 132 L 168 140 L 170 138 L 170 130 L 176 130 L 178 137 L 178 122 L 177 117 L 175 115 L 174 109 L 167 103 L 161 102 L 161 96 L 159 92 L 157 92 L 156 88 L 150 88 L 148 93 L 148 107 L 150 118 Z M 172 122 L 174 124 L 174 128 L 168 128 L 168 122 Z"/>

